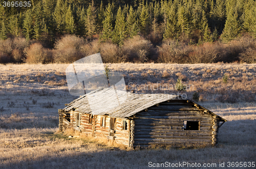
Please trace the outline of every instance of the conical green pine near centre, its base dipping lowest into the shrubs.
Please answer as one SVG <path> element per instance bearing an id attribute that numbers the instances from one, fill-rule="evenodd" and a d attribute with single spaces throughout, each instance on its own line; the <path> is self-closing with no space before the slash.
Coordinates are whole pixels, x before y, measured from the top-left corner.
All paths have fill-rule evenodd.
<path id="1" fill-rule="evenodd" d="M 122 45 L 125 35 L 126 35 L 126 22 L 124 18 L 124 13 L 122 12 L 121 7 L 119 7 L 116 15 L 116 24 L 115 24 L 115 30 L 114 30 L 112 40 L 114 43 Z"/>

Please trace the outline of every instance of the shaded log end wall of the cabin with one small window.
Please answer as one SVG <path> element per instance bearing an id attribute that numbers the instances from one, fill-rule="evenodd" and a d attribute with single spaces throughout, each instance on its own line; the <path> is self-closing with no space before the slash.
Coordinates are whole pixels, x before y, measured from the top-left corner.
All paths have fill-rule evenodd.
<path id="1" fill-rule="evenodd" d="M 199 121 L 199 130 L 184 130 L 184 120 Z M 138 112 L 134 119 L 131 146 L 202 146 L 217 140 L 218 116 L 205 113 L 198 105 L 186 101 L 163 102 Z M 132 138 L 132 137 L 131 137 Z"/>

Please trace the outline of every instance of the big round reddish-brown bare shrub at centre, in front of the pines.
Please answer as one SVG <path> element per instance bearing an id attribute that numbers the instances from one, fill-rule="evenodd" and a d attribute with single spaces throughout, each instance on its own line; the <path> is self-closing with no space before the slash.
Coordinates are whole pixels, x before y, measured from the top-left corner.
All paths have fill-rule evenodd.
<path id="1" fill-rule="evenodd" d="M 126 39 L 121 47 L 122 54 L 129 61 L 144 63 L 153 59 L 153 44 L 141 36 Z"/>

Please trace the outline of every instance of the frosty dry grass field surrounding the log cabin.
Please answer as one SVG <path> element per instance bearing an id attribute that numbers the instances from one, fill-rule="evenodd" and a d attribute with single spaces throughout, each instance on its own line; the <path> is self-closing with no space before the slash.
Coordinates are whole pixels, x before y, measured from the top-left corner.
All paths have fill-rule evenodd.
<path id="1" fill-rule="evenodd" d="M 0 65 L 0 168 L 149 168 L 149 162 L 234 168 L 228 162 L 256 162 L 256 64 L 109 64 L 123 74 L 128 90 L 190 100 L 197 92 L 200 105 L 228 120 L 215 147 L 134 151 L 57 132 L 58 109 L 77 98 L 68 92 L 67 66 Z M 178 78 L 187 91 L 175 90 Z"/>

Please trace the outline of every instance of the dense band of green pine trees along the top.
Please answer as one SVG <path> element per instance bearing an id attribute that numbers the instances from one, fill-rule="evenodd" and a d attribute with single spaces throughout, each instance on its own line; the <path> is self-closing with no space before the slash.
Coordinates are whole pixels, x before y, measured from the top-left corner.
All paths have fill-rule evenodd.
<path id="1" fill-rule="evenodd" d="M 23 35 L 26 39 L 76 34 L 87 38 L 99 35 L 122 45 L 137 34 L 160 39 L 186 37 L 199 42 L 224 41 L 241 32 L 256 36 L 254 0 L 174 0 L 126 2 L 84 2 L 42 0 L 32 9 L 9 17 L 0 8 L 1 39 Z"/>

